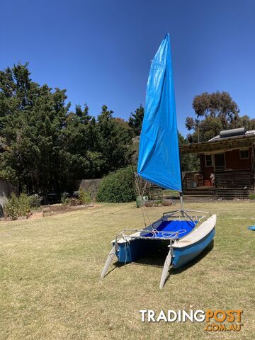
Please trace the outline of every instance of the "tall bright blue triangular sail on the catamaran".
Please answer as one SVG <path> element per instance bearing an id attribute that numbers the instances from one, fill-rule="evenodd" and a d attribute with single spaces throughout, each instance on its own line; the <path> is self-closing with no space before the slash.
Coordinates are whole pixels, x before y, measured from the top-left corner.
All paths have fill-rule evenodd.
<path id="1" fill-rule="evenodd" d="M 169 34 L 159 46 L 149 70 L 137 173 L 158 186 L 181 192 Z"/>

